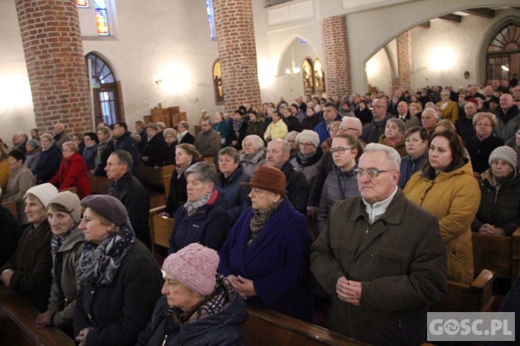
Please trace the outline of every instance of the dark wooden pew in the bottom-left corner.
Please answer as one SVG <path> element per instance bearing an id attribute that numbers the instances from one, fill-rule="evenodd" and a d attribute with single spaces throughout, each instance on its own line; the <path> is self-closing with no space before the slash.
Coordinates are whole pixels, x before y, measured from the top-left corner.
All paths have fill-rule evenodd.
<path id="1" fill-rule="evenodd" d="M 17 293 L 0 286 L 0 345 L 75 345 L 57 327 L 37 328 L 37 314 Z"/>

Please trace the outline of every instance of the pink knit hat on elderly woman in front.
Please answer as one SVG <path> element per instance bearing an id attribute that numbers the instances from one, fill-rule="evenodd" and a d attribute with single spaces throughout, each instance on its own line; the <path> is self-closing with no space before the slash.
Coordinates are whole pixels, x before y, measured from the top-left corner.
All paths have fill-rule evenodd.
<path id="1" fill-rule="evenodd" d="M 218 253 L 198 243 L 189 244 L 172 253 L 162 264 L 162 270 L 200 295 L 210 295 L 216 285 Z"/>

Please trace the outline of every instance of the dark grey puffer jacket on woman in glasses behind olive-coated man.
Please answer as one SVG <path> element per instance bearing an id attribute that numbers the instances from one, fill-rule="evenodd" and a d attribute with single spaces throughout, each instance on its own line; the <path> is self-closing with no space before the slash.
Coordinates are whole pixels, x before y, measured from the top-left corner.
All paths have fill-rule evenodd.
<path id="1" fill-rule="evenodd" d="M 342 190 L 343 195 L 341 193 Z M 359 196 L 359 190 L 358 179 L 354 176 L 354 172 L 352 172 L 352 170 L 341 172 L 340 169 L 334 165 L 332 172 L 329 173 L 323 184 L 320 212 L 318 214 L 318 231 L 322 233 L 325 229 L 329 210 L 331 210 L 334 203 L 356 196 Z"/>

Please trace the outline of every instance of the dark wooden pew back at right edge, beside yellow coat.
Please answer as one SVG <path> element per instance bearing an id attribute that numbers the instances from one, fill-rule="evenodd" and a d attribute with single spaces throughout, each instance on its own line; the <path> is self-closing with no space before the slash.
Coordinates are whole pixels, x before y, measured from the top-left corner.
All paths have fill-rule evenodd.
<path id="1" fill-rule="evenodd" d="M 483 269 L 493 271 L 514 283 L 520 271 L 520 228 L 511 237 L 472 233 L 475 273 Z"/>

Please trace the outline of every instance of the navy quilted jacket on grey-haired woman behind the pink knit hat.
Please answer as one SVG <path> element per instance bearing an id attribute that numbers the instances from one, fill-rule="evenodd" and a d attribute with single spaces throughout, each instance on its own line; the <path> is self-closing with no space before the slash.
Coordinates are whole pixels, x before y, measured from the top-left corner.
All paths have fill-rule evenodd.
<path id="1" fill-rule="evenodd" d="M 184 206 L 177 208 L 168 255 L 192 243 L 220 250 L 231 228 L 226 211 L 227 200 L 216 190 L 209 201 L 191 216 Z"/>

